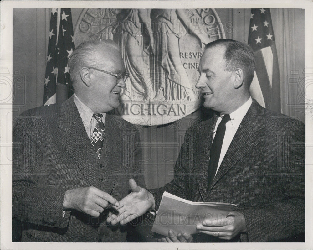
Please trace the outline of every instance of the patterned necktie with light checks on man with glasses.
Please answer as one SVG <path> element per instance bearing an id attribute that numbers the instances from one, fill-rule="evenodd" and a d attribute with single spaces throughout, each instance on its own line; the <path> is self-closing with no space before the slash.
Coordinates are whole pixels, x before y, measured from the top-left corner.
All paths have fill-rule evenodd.
<path id="1" fill-rule="evenodd" d="M 94 132 L 91 135 L 91 143 L 95 147 L 95 150 L 97 152 L 97 155 L 100 159 L 101 152 L 102 152 L 102 146 L 103 146 L 103 139 L 105 135 L 105 129 L 104 124 L 102 122 L 103 115 L 99 113 L 94 113 L 93 117 L 97 120 L 97 124 L 95 126 Z"/>

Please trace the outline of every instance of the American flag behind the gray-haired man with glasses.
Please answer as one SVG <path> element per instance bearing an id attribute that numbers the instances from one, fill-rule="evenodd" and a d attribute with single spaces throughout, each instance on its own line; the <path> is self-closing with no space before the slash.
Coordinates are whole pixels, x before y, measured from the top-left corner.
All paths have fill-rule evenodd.
<path id="1" fill-rule="evenodd" d="M 67 64 L 75 49 L 71 9 L 51 9 L 43 105 L 63 102 L 72 95 Z"/>

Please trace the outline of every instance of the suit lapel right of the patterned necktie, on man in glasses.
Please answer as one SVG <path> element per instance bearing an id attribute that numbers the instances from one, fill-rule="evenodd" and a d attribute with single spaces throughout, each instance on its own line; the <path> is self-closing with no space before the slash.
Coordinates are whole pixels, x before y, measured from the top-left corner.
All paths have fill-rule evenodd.
<path id="1" fill-rule="evenodd" d="M 121 166 L 121 161 L 116 164 L 112 159 L 121 159 L 122 157 L 120 149 L 120 130 L 112 126 L 115 124 L 112 120 L 113 117 L 115 116 L 109 113 L 105 115 L 105 137 L 100 158 L 100 162 L 104 166 L 103 173 L 107 174 L 105 176 L 105 183 L 103 184 L 102 190 L 108 194 L 112 193 L 118 178 L 118 174 L 114 173 L 114 170 L 118 170 L 115 168 Z"/>

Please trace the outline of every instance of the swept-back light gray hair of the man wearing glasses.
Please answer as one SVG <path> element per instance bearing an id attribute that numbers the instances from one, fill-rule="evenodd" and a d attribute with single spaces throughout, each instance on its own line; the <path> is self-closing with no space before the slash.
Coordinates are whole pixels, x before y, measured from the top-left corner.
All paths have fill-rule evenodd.
<path id="1" fill-rule="evenodd" d="M 101 49 L 117 49 L 118 45 L 113 40 L 96 39 L 82 42 L 70 55 L 68 66 L 70 68 L 71 80 L 75 89 L 75 82 L 80 79 L 80 69 L 83 67 L 99 67 L 99 51 Z"/>

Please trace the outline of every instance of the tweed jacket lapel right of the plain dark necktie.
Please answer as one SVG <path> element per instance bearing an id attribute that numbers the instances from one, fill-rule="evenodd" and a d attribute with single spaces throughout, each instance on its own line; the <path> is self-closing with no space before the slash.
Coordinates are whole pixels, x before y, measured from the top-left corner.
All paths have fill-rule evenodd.
<path id="1" fill-rule="evenodd" d="M 209 191 L 213 186 L 239 162 L 249 151 L 259 143 L 256 132 L 264 128 L 264 109 L 253 100 L 247 114 L 229 145 L 224 159 L 218 169 Z"/>

